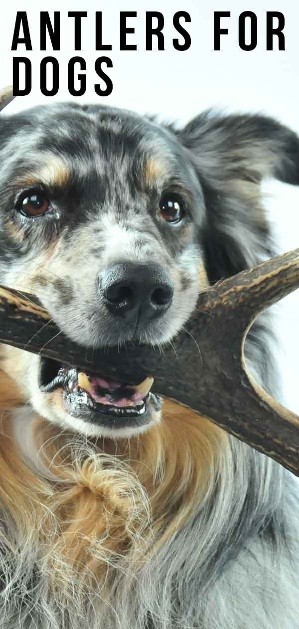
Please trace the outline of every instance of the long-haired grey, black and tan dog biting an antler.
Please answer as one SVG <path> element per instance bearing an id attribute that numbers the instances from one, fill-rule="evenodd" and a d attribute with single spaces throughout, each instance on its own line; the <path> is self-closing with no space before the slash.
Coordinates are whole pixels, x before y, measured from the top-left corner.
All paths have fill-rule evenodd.
<path id="1" fill-rule="evenodd" d="M 0 282 L 82 352 L 137 342 L 163 360 L 201 291 L 273 255 L 263 178 L 299 184 L 298 137 L 262 115 L 180 128 L 55 103 L 0 125 Z M 272 336 L 263 315 L 246 360 L 277 396 Z M 148 380 L 26 346 L 1 345 L 0 367 L 1 627 L 299 626 L 290 472 Z"/>

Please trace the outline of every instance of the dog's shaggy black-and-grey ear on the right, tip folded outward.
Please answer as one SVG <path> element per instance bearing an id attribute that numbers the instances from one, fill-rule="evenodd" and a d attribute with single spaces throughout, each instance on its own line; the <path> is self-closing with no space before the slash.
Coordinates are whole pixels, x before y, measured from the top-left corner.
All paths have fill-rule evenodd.
<path id="1" fill-rule="evenodd" d="M 205 194 L 204 248 L 210 281 L 231 276 L 272 255 L 261 203 L 261 179 L 299 184 L 299 138 L 261 115 L 207 111 L 177 138 Z"/>

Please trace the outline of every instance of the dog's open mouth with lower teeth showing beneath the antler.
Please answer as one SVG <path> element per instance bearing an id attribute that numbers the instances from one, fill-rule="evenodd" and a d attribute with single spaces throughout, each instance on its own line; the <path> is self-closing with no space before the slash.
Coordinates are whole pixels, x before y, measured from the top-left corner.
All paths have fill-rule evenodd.
<path id="1" fill-rule="evenodd" d="M 77 411 L 76 415 L 79 409 L 81 413 L 89 409 L 111 418 L 141 419 L 146 415 L 150 400 L 156 409 L 160 408 L 160 399 L 150 392 L 153 384 L 151 377 L 138 386 L 131 386 L 42 358 L 38 384 L 42 392 L 63 389 L 65 403 L 71 411 Z"/>

